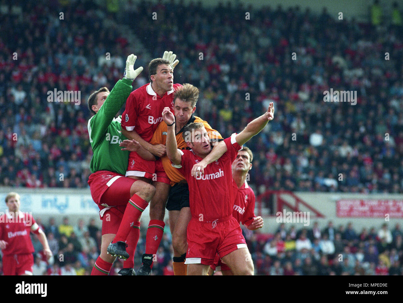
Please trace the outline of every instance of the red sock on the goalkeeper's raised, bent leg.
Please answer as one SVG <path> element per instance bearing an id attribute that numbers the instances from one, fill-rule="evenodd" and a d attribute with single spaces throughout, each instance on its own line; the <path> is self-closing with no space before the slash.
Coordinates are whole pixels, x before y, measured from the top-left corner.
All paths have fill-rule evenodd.
<path id="1" fill-rule="evenodd" d="M 141 199 L 138 195 L 133 195 L 129 203 L 127 203 L 125 214 L 123 214 L 122 222 L 120 222 L 120 226 L 116 236 L 114 237 L 112 243 L 116 243 L 118 241 L 125 242 L 127 240 L 127 236 L 135 222 L 137 222 L 141 216 L 141 213 L 147 207 L 147 201 Z"/>

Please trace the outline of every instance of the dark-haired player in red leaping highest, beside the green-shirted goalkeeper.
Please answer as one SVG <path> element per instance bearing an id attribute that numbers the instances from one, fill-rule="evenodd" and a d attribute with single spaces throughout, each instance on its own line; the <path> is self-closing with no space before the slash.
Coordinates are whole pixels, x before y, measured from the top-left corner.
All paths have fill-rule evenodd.
<path id="1" fill-rule="evenodd" d="M 168 107 L 173 112 L 173 92 L 181 86 L 173 83 L 173 69 L 179 62 L 175 58 L 176 55 L 172 52 L 165 52 L 163 58 L 151 60 L 148 65 L 150 83 L 139 87 L 129 95 L 126 109 L 122 114 L 122 134 L 128 139 L 135 139 L 157 157 L 166 154 L 165 146 L 152 145 L 149 142 L 159 122 L 162 121 L 162 110 Z M 126 176 L 152 183 L 156 189 L 150 201 L 150 222 L 145 241 L 145 254 L 142 258 L 143 264 L 137 272 L 138 276 L 146 276 L 151 273 L 153 256 L 157 253 L 164 232 L 165 203 L 170 180 L 160 159 L 147 161 L 134 151 L 129 156 Z M 130 212 L 131 208 L 127 208 L 126 211 Z M 116 237 L 123 238 L 119 232 Z"/>

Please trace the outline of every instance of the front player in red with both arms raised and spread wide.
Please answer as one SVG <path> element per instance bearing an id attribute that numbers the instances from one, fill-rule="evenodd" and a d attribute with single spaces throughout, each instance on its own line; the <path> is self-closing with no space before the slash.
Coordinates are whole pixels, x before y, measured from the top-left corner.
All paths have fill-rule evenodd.
<path id="1" fill-rule="evenodd" d="M 191 220 L 187 226 L 188 251 L 185 264 L 188 275 L 207 275 L 218 253 L 235 275 L 253 275 L 253 263 L 239 222 L 233 217 L 234 193 L 231 164 L 241 145 L 258 134 L 274 117 L 271 102 L 267 112 L 251 121 L 239 134 L 224 139 L 225 153 L 215 162 L 200 168 L 193 178 L 193 167 L 210 154 L 209 137 L 204 125 L 189 124 L 183 137 L 191 150 L 177 149 L 174 115 L 170 108 L 162 112 L 168 125 L 166 154 L 189 185 Z M 203 171 L 202 171 L 203 169 Z"/>

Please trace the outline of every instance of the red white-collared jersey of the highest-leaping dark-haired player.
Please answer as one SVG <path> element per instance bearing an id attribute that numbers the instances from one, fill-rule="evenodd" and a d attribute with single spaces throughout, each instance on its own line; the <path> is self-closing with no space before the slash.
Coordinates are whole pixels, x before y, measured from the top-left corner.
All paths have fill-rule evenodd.
<path id="1" fill-rule="evenodd" d="M 172 90 L 162 97 L 152 89 L 151 83 L 132 91 L 122 114 L 122 128 L 127 131 L 135 130 L 141 138 L 150 142 L 158 124 L 162 121 L 164 107 L 169 107 L 174 113 L 173 92 L 181 86 L 178 83 L 174 84 Z"/>

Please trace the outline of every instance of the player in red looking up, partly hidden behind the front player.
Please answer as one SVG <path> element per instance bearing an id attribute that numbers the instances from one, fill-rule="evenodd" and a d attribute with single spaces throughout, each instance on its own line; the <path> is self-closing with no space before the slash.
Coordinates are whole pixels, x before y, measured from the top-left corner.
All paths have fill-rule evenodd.
<path id="1" fill-rule="evenodd" d="M 255 215 L 255 193 L 247 183 L 249 170 L 252 168 L 253 154 L 248 147 L 238 151 L 238 155 L 232 162 L 233 191 L 235 197 L 233 216 L 238 222 L 242 222 L 249 230 L 256 230 L 263 227 L 263 219 Z M 231 268 L 222 263 L 216 255 L 214 265 L 209 269 L 209 275 L 213 271 L 221 270 L 224 276 L 233 275 Z"/>

